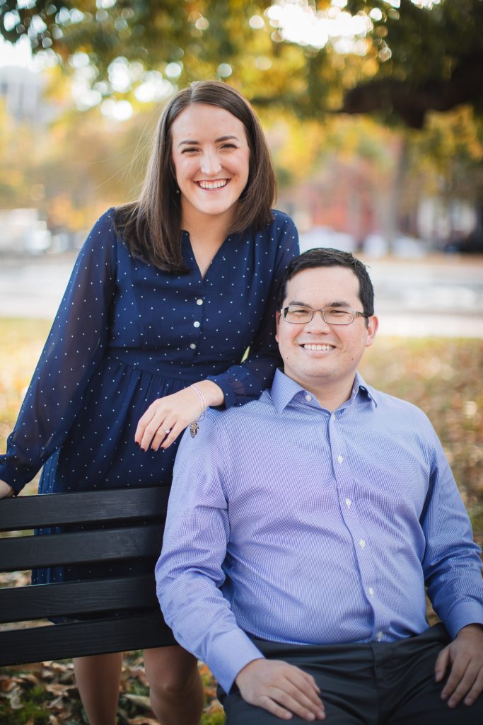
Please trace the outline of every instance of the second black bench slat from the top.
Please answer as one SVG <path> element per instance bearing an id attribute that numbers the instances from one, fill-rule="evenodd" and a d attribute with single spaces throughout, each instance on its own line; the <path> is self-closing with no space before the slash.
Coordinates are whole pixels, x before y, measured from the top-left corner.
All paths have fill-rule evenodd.
<path id="1" fill-rule="evenodd" d="M 161 550 L 162 529 L 162 524 L 152 524 L 0 539 L 1 569 L 21 571 L 43 566 L 156 556 Z"/>

